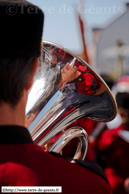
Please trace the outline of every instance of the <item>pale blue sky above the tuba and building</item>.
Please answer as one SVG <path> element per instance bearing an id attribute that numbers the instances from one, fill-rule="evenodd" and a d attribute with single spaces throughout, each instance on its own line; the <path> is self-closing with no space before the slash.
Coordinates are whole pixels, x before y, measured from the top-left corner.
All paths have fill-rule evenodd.
<path id="1" fill-rule="evenodd" d="M 78 10 L 85 21 L 86 42 L 92 40 L 92 27 L 104 27 L 125 11 L 126 0 L 29 0 L 45 13 L 43 40 L 55 42 L 71 51 L 81 48 Z"/>

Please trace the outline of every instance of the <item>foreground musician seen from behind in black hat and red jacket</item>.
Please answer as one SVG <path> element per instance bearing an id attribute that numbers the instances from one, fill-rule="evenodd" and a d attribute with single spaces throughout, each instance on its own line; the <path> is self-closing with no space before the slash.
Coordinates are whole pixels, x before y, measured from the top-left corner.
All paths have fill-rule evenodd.
<path id="1" fill-rule="evenodd" d="M 97 165 L 44 152 L 24 127 L 43 18 L 41 9 L 27 1 L 0 1 L 0 186 L 62 186 L 66 194 L 109 194 L 110 185 Z"/>

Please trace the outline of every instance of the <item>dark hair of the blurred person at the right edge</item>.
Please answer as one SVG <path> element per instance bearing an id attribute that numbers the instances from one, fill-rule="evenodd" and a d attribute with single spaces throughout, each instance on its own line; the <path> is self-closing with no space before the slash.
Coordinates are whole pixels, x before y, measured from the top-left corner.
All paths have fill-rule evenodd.
<path id="1" fill-rule="evenodd" d="M 129 110 L 129 93 L 117 93 L 116 102 L 118 108 L 125 108 Z"/>

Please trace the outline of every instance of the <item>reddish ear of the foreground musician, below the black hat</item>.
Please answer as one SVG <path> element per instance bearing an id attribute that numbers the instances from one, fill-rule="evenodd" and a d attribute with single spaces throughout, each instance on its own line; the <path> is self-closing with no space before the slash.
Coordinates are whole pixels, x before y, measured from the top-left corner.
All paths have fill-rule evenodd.
<path id="1" fill-rule="evenodd" d="M 28 81 L 27 81 L 27 84 L 25 87 L 26 90 L 29 90 L 33 84 L 34 76 L 35 76 L 36 70 L 38 68 L 38 65 L 39 65 L 39 59 L 38 58 L 33 59 L 32 63 L 31 63 L 31 72 L 30 72 L 30 75 L 28 77 Z"/>

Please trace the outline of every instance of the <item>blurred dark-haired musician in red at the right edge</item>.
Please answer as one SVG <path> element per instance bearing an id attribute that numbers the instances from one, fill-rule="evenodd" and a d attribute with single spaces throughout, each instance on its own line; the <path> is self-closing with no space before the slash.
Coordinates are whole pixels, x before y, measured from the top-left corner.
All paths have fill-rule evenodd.
<path id="1" fill-rule="evenodd" d="M 129 93 L 117 93 L 122 124 L 102 133 L 98 161 L 103 166 L 113 194 L 129 193 Z"/>

